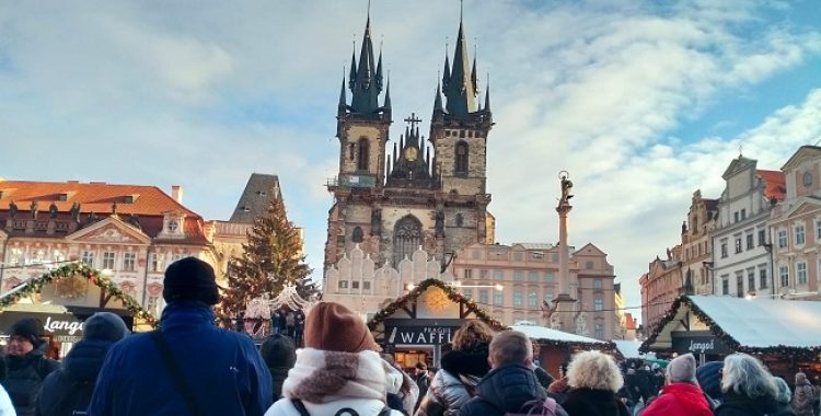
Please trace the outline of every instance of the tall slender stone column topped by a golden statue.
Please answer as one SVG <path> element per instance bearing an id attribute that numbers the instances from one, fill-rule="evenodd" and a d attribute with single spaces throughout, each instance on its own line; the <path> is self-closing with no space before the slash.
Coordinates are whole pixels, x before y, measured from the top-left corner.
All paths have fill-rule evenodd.
<path id="1" fill-rule="evenodd" d="M 574 305 L 576 299 L 570 293 L 570 246 L 567 243 L 567 217 L 573 209 L 570 198 L 573 195 L 573 182 L 568 178 L 566 171 L 559 172 L 562 184 L 562 199 L 558 200 L 556 211 L 558 212 L 558 296 L 553 300 L 554 310 L 562 323 L 562 331 L 576 332 L 576 320 Z"/>

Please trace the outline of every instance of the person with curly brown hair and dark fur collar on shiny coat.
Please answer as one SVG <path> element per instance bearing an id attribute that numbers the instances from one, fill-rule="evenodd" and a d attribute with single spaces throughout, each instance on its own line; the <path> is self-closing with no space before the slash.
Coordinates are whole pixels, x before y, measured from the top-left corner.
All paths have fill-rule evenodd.
<path id="1" fill-rule="evenodd" d="M 473 397 L 476 384 L 490 371 L 488 348 L 493 337 L 493 330 L 482 321 L 469 321 L 456 331 L 453 349 L 442 355 L 442 368 L 433 375 L 416 416 L 450 415 Z"/>

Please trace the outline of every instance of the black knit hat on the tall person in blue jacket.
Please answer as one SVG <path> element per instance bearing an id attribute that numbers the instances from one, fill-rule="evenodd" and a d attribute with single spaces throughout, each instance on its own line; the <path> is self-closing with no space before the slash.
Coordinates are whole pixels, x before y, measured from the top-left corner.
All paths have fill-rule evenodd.
<path id="1" fill-rule="evenodd" d="M 217 277 L 213 268 L 197 257 L 185 257 L 165 269 L 162 297 L 166 303 L 180 300 L 196 300 L 205 304 L 217 304 Z"/>

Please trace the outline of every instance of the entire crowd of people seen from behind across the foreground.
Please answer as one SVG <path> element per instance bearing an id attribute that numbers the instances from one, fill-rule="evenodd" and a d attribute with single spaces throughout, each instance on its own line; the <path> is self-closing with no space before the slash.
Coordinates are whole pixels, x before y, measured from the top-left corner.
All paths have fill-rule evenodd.
<path id="1" fill-rule="evenodd" d="M 534 365 L 527 335 L 470 321 L 441 368 L 419 362 L 409 374 L 334 302 L 304 317 L 303 348 L 286 325 L 257 350 L 215 325 L 213 269 L 194 257 L 169 266 L 163 298 L 159 330 L 131 335 L 116 314 L 96 313 L 62 362 L 46 357 L 41 323 L 16 322 L 0 359 L 0 416 L 818 415 L 805 373 L 790 391 L 745 354 L 703 366 L 687 354 L 654 369 L 583 351 L 554 379 Z"/>

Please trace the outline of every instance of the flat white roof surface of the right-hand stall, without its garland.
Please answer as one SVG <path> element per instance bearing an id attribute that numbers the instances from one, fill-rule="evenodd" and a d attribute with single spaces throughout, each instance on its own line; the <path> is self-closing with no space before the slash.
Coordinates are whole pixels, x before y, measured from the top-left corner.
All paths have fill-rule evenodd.
<path id="1" fill-rule="evenodd" d="M 821 346 L 821 302 L 718 296 L 690 299 L 745 347 Z"/>

